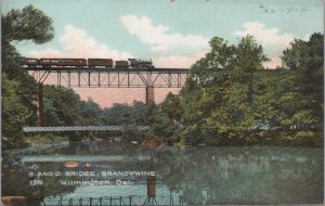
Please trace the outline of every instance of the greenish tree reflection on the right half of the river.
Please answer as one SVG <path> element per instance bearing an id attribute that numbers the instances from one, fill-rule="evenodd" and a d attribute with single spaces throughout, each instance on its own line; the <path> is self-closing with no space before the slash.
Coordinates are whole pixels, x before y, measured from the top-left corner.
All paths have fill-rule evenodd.
<path id="1" fill-rule="evenodd" d="M 323 156 L 314 149 L 161 151 L 158 173 L 187 204 L 320 203 Z"/>

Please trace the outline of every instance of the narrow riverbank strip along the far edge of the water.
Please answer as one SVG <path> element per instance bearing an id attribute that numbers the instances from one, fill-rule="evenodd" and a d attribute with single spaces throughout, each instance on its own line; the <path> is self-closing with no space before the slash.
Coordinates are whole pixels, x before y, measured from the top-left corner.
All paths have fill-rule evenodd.
<path id="1" fill-rule="evenodd" d="M 4 153 L 29 153 L 35 151 L 46 151 L 49 149 L 60 149 L 60 147 L 66 147 L 69 145 L 69 139 L 68 137 L 61 137 L 61 136 L 52 136 L 52 134 L 37 134 L 37 136 L 29 136 L 29 137 L 23 137 L 22 140 L 24 143 L 18 144 L 17 147 L 11 147 L 6 149 L 2 147 L 2 151 Z M 133 139 L 132 139 L 133 140 Z M 136 139 L 138 140 L 138 139 Z M 140 147 L 143 147 L 141 144 L 141 140 L 136 141 L 136 144 L 134 144 L 135 141 L 131 140 L 123 140 L 122 137 L 110 137 L 110 138 L 84 138 L 83 140 L 80 139 L 80 141 L 90 141 L 90 142 L 109 142 L 109 144 L 120 144 L 122 142 L 129 142 L 130 144 L 136 145 L 139 144 Z M 245 147 L 245 146 L 285 146 L 285 147 L 315 147 L 315 149 L 323 149 L 324 145 L 324 139 L 322 134 L 318 134 L 318 138 L 314 137 L 300 137 L 298 138 L 291 138 L 289 134 L 285 136 L 282 134 L 277 138 L 275 138 L 275 134 L 268 134 L 264 137 L 248 137 L 245 139 L 231 139 L 231 138 L 216 138 L 216 139 L 207 139 L 202 140 L 197 142 L 192 142 L 192 144 L 185 143 L 185 142 L 169 142 L 165 146 L 170 147 L 192 147 L 192 146 L 200 146 L 200 147 L 224 147 L 224 146 L 236 146 L 236 147 Z M 79 141 L 77 141 L 79 142 Z M 167 142 L 167 141 L 166 141 Z"/>

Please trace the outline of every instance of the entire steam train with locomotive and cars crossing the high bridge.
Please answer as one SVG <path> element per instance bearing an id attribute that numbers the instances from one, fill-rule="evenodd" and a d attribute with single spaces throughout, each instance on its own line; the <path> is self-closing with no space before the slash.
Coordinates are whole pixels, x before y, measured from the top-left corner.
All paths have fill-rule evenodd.
<path id="1" fill-rule="evenodd" d="M 115 64 L 114 64 L 115 63 Z M 155 68 L 152 60 L 128 59 L 113 61 L 112 59 L 25 59 L 27 67 L 87 67 L 87 68 Z"/>

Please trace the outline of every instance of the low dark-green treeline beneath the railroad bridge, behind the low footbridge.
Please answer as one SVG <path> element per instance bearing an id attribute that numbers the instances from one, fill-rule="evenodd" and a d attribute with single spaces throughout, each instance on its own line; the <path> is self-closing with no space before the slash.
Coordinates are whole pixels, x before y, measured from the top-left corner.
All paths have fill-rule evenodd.
<path id="1" fill-rule="evenodd" d="M 46 126 L 122 126 L 121 131 L 82 131 L 61 133 L 73 139 L 103 138 L 122 136 L 123 140 L 139 140 L 145 131 L 138 126 L 148 126 L 154 118 L 156 105 L 146 105 L 134 101 L 132 105 L 114 104 L 110 108 L 101 108 L 91 98 L 80 99 L 73 89 L 43 87 Z"/>

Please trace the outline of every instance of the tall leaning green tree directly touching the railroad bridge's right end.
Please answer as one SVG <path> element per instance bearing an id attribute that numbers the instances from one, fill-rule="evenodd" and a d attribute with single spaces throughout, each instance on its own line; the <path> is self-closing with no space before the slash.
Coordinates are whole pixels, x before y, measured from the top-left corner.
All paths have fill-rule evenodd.
<path id="1" fill-rule="evenodd" d="M 235 47 L 219 37 L 210 40 L 210 47 L 211 52 L 193 65 L 181 91 L 184 107 L 183 142 L 193 143 L 217 134 L 214 126 L 208 126 L 207 118 L 213 108 L 222 104 L 224 88 L 232 74 Z"/>

